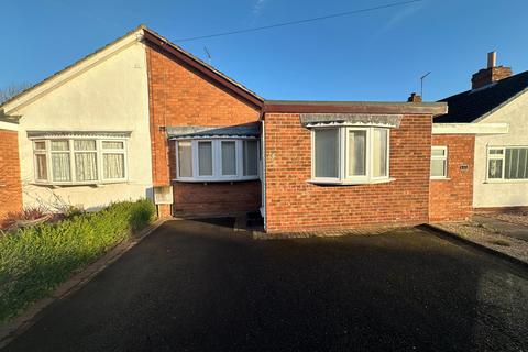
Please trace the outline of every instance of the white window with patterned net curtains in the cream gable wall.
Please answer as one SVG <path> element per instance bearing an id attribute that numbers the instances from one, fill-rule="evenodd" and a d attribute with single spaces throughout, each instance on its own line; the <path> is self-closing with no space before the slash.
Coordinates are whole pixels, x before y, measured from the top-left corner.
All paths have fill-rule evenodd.
<path id="1" fill-rule="evenodd" d="M 35 183 L 92 185 L 127 180 L 124 140 L 40 139 L 33 141 Z"/>

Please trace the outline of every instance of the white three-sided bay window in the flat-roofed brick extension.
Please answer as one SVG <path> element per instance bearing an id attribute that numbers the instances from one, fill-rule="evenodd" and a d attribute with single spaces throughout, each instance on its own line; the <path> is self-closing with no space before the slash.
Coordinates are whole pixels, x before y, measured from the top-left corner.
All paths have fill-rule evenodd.
<path id="1" fill-rule="evenodd" d="M 324 127 L 312 132 L 315 183 L 366 184 L 389 178 L 389 130 Z"/>

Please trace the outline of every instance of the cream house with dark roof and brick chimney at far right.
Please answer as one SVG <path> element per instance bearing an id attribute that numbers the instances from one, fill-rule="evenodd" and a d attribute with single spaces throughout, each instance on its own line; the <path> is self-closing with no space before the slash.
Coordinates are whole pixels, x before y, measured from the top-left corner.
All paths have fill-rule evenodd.
<path id="1" fill-rule="evenodd" d="M 495 58 L 488 54 L 471 90 L 442 99 L 449 112 L 435 119 L 437 128 L 452 131 L 473 127 L 475 210 L 528 206 L 528 72 L 512 75 Z"/>

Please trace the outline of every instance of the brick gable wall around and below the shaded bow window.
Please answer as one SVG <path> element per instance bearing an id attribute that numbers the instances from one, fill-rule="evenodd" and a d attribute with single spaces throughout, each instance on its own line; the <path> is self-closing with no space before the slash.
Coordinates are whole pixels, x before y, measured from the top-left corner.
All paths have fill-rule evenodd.
<path id="1" fill-rule="evenodd" d="M 229 127 L 258 121 L 260 110 L 154 47 L 146 48 L 153 182 L 168 185 L 176 170 L 174 143 L 163 127 Z M 174 210 L 185 215 L 229 213 L 260 207 L 260 182 L 174 183 Z M 258 191 L 257 191 L 258 190 Z"/>

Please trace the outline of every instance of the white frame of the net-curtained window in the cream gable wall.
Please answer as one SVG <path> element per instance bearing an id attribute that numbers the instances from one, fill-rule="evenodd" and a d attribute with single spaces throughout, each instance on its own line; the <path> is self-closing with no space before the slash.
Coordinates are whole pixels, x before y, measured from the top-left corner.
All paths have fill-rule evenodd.
<path id="1" fill-rule="evenodd" d="M 96 150 L 90 151 L 76 151 L 75 141 L 79 140 L 89 140 L 96 141 Z M 34 183 L 38 185 L 50 185 L 50 186 L 86 186 L 86 185 L 105 185 L 105 184 L 117 184 L 125 183 L 129 179 L 129 165 L 128 165 L 128 141 L 123 138 L 100 138 L 100 136 L 48 136 L 48 138 L 36 138 L 32 139 L 32 148 L 33 148 L 33 175 Z M 67 141 L 68 151 L 52 151 L 51 143 L 52 141 Z M 45 150 L 36 150 L 36 143 L 44 142 Z M 102 148 L 102 142 L 122 142 L 123 148 Z M 69 154 L 69 175 L 70 180 L 53 180 L 53 163 L 52 154 L 54 153 L 68 153 Z M 76 153 L 95 153 L 96 154 L 96 167 L 97 167 L 97 179 L 95 180 L 82 180 L 78 182 L 76 168 L 75 168 L 75 155 Z M 123 155 L 123 167 L 124 167 L 124 177 L 122 178 L 105 178 L 103 177 L 103 155 L 105 154 L 122 154 Z M 38 178 L 38 165 L 36 161 L 36 155 L 45 155 L 46 158 L 46 176 L 47 179 Z"/>

